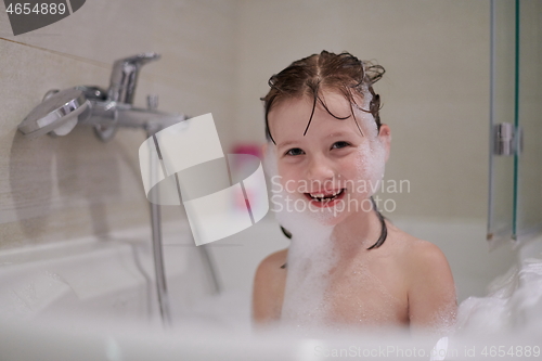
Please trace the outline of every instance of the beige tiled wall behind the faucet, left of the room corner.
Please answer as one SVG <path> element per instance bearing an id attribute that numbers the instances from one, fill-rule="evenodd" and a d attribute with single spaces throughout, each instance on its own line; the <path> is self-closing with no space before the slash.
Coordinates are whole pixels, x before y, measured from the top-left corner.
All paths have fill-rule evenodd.
<path id="1" fill-rule="evenodd" d="M 232 133 L 233 1 L 92 0 L 44 28 L 12 35 L 0 7 L 0 248 L 105 235 L 149 224 L 139 173 L 141 130 L 108 143 L 90 128 L 27 140 L 17 125 L 49 89 L 107 88 L 113 62 L 154 51 L 136 104 L 159 94 L 159 109 L 212 113 L 224 151 Z M 165 207 L 165 219 L 183 217 Z"/>

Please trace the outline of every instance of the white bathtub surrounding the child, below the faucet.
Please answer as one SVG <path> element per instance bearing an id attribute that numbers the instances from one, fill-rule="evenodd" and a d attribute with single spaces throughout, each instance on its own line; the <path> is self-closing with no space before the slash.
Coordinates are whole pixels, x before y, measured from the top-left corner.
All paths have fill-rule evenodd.
<path id="1" fill-rule="evenodd" d="M 517 253 L 509 249 L 488 255 L 483 237 L 478 237 L 483 224 L 413 219 L 395 222 L 414 235 L 435 241 L 450 260 L 463 323 L 460 332 L 446 340 L 412 338 L 389 330 L 326 330 L 313 335 L 285 327 L 254 330 L 249 292 L 254 270 L 261 258 L 288 244 L 274 220 L 266 218 L 209 246 L 219 271 L 218 294 L 188 224 L 164 225 L 171 327 L 165 327 L 159 317 L 146 228 L 1 252 L 0 360 L 442 360 L 439 350 L 446 350 L 446 360 L 491 356 L 518 360 L 518 347 L 522 358 L 535 359 L 533 348 L 542 347 L 542 337 L 538 336 L 542 334 L 542 304 L 535 297 L 540 292 L 532 295 L 532 288 L 541 278 L 535 271 L 521 270 L 526 265 L 534 269 L 542 265 L 532 258 L 542 249 L 537 248 L 542 240 L 519 253 L 517 261 Z M 467 246 L 469 253 L 456 250 Z M 479 266 L 480 259 L 487 263 Z M 503 263 L 508 261 L 512 271 L 516 270 L 508 274 L 513 281 L 496 286 L 493 283 L 493 292 L 507 287 L 508 294 L 482 297 L 487 280 L 506 275 L 509 265 Z M 516 309 L 506 308 L 504 304 L 514 296 L 516 301 L 511 302 Z M 501 323 L 502 330 L 496 330 L 488 321 L 491 314 L 485 312 L 488 305 L 493 312 L 501 312 L 501 320 L 504 313 L 515 312 L 516 322 Z M 532 357 L 525 354 L 527 347 Z M 499 354 L 511 348 L 513 353 Z"/>

